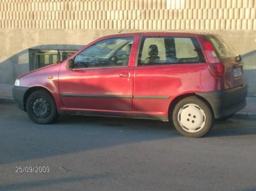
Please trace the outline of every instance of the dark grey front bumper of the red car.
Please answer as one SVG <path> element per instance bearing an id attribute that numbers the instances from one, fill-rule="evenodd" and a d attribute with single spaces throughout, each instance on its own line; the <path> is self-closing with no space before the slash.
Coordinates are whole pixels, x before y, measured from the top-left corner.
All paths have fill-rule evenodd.
<path id="1" fill-rule="evenodd" d="M 13 87 L 14 102 L 16 106 L 23 111 L 26 111 L 25 105 L 24 105 L 24 95 L 26 94 L 27 90 L 28 90 L 28 87 L 22 87 L 22 86 Z"/>

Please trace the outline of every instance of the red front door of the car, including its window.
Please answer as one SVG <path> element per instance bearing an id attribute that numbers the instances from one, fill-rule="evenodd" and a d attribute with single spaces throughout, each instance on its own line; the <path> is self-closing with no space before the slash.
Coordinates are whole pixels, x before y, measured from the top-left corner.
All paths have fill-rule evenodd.
<path id="1" fill-rule="evenodd" d="M 103 39 L 74 56 L 72 70 L 63 63 L 59 92 L 64 107 L 130 111 L 134 67 L 129 62 L 135 54 L 131 49 L 134 36 Z"/>

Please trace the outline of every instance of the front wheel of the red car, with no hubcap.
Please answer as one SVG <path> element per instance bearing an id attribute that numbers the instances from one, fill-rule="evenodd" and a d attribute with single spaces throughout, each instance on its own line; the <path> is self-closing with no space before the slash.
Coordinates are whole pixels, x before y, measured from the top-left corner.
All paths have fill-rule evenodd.
<path id="1" fill-rule="evenodd" d="M 55 100 L 44 90 L 34 91 L 28 96 L 26 109 L 28 117 L 36 124 L 51 124 L 59 116 Z"/>

